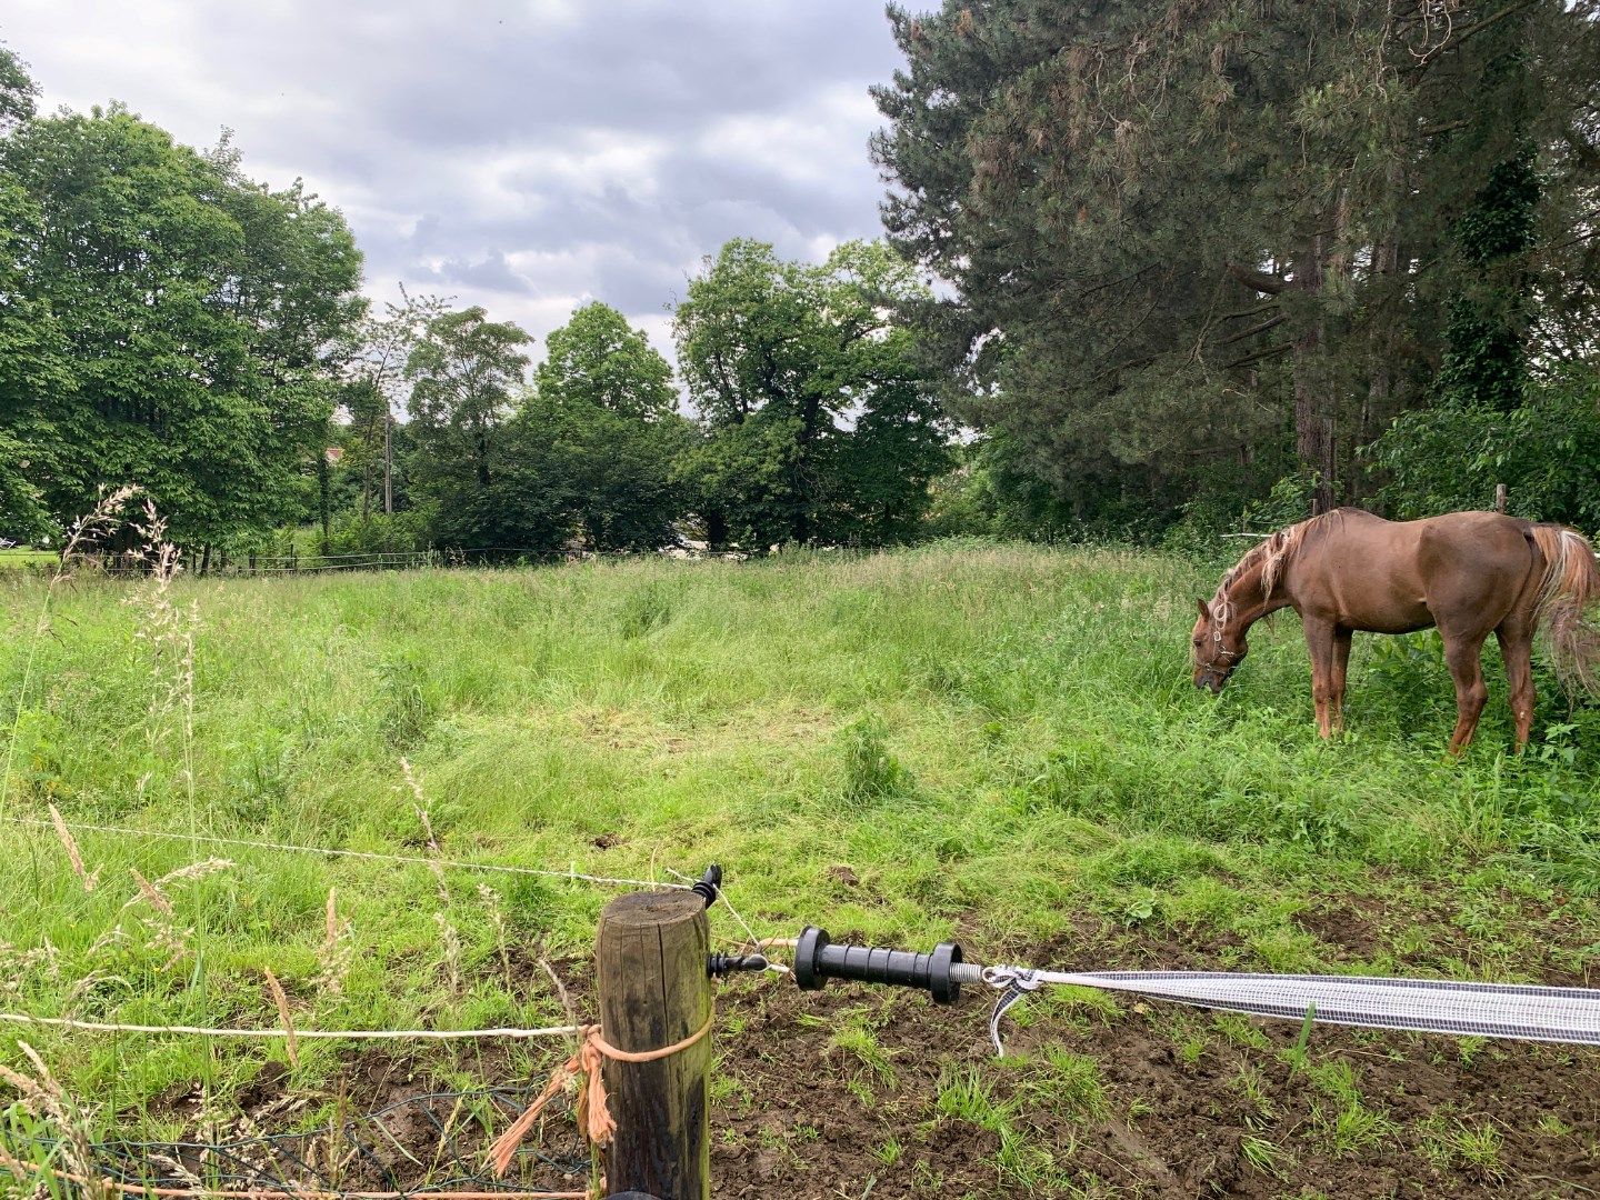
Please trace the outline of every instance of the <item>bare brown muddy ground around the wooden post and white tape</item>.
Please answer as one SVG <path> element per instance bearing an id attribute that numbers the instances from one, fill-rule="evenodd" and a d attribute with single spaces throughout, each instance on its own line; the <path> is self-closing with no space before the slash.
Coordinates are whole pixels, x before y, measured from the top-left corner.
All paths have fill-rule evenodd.
<path id="1" fill-rule="evenodd" d="M 1510 901 L 1507 901 L 1510 902 Z M 1544 922 L 1549 914 L 1539 914 Z M 1398 915 L 1395 915 L 1398 920 Z M 1424 914 L 1426 918 L 1426 914 Z M 1408 910 L 1403 925 L 1416 926 Z M 1330 902 L 1306 922 L 1330 954 L 1386 944 L 1390 914 Z M 1410 971 L 1443 974 L 1470 955 L 1459 930 L 1411 938 Z M 1581 947 L 1546 938 L 1549 982 L 1595 986 Z M 1022 962 L 1061 968 L 1227 966 L 1237 947 L 1200 933 L 1149 934 L 1085 922 Z M 587 963 L 563 971 L 584 1003 Z M 1174 1005 L 1056 994 L 1008 1021 L 1008 1058 L 987 1040 L 987 997 L 941 1008 L 925 997 L 850 986 L 798 992 L 776 976 L 723 984 L 712 1082 L 714 1194 L 722 1197 L 1587 1197 L 1600 1194 L 1600 1051 L 1440 1035 L 1216 1018 Z M 494 1074 L 493 1054 L 482 1061 Z M 552 1058 L 554 1064 L 554 1058 Z M 352 1059 L 352 1112 L 434 1088 L 427 1053 Z M 498 1080 L 538 1086 L 538 1080 Z M 237 1098 L 261 1130 L 299 1101 L 282 1069 Z M 322 1098 L 325 1099 L 325 1098 Z M 515 1098 L 512 1098 L 515 1099 Z M 194 1098 L 165 1098 L 182 1114 Z M 381 1150 L 403 1186 L 438 1154 L 440 1118 L 402 1106 Z M 502 1101 L 486 1125 L 504 1128 Z M 462 1126 L 474 1160 L 488 1138 Z M 582 1150 L 565 1114 L 541 1144 L 557 1165 Z M 413 1165 L 416 1163 L 416 1165 Z M 371 1162 L 346 1187 L 381 1186 Z M 581 1187 L 534 1163 L 525 1186 Z M 392 1181 L 387 1184 L 392 1186 Z"/>

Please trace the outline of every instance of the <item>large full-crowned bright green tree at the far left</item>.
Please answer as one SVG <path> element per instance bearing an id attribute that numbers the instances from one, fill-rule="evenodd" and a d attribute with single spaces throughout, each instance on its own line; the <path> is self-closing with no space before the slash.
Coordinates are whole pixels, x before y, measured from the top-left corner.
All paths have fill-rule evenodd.
<path id="1" fill-rule="evenodd" d="M 344 219 L 115 106 L 18 125 L 0 206 L 0 432 L 37 504 L 59 525 L 138 483 L 194 544 L 299 518 L 360 306 Z"/>

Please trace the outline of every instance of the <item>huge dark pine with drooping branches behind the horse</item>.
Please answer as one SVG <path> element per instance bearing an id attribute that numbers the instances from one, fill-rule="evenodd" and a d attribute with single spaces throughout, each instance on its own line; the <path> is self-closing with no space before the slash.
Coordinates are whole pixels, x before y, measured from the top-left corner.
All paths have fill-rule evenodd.
<path id="1" fill-rule="evenodd" d="M 957 293 L 918 318 L 960 411 L 1083 517 L 1259 493 L 1285 450 L 1318 507 L 1354 494 L 1355 446 L 1434 395 L 1443 298 L 1475 278 L 1456 328 L 1493 314 L 1510 363 L 1528 320 L 1507 294 L 1573 269 L 1518 243 L 1488 270 L 1464 246 L 1469 210 L 1515 190 L 1507 171 L 1526 190 L 1528 165 L 1534 224 L 1582 232 L 1590 3 L 890 16 L 907 69 L 877 90 L 885 221 Z M 1496 74 L 1509 32 L 1518 69 Z M 1514 85 L 1520 102 L 1499 102 Z M 1470 154 L 1446 147 L 1472 122 Z"/>

